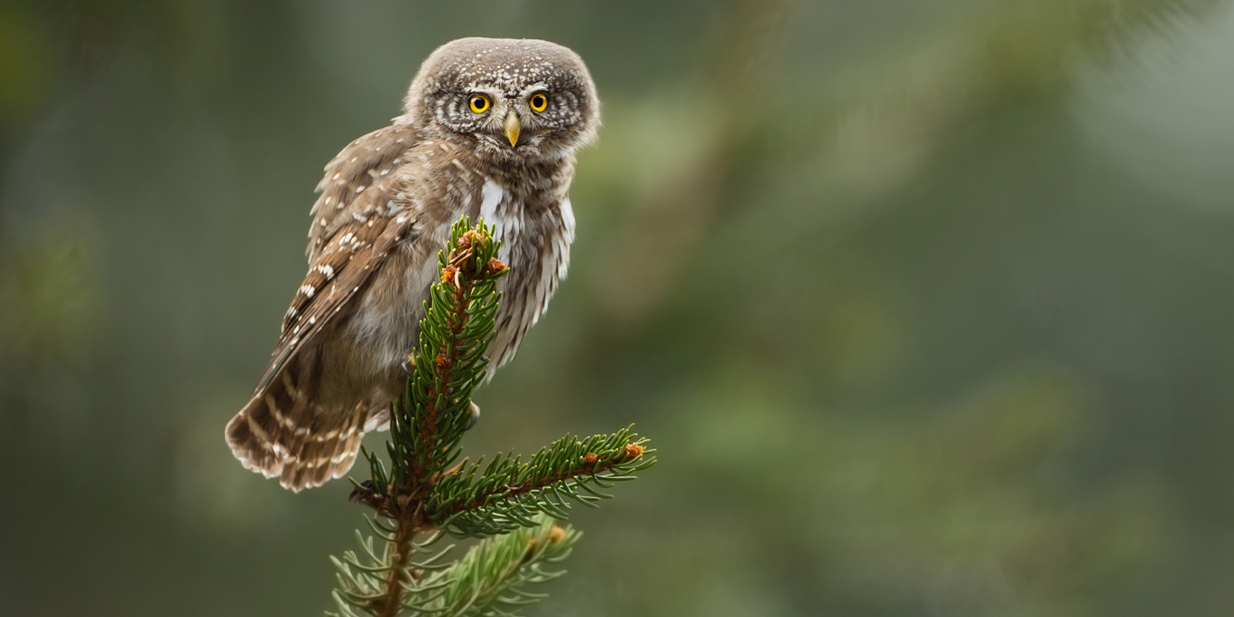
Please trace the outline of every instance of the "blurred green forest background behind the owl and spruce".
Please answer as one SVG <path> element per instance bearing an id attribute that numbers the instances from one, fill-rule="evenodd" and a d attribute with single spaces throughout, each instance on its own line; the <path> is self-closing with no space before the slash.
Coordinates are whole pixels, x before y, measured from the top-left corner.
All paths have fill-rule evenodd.
<path id="1" fill-rule="evenodd" d="M 348 484 L 222 427 L 322 165 L 462 36 L 605 102 L 469 452 L 661 458 L 529 615 L 1234 615 L 1215 0 L 0 2 L 0 612 L 331 606 Z"/>

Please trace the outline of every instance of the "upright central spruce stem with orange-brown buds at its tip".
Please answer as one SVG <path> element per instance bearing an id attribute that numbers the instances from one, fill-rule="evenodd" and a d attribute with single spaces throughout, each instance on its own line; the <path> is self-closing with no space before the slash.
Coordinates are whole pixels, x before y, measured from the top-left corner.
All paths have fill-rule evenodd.
<path id="1" fill-rule="evenodd" d="M 390 407 L 390 468 L 375 453 L 364 452 L 373 479 L 355 482 L 352 500 L 368 503 L 389 521 L 374 520 L 386 548 L 376 565 L 352 564 L 363 576 L 341 571 L 343 591 L 337 597 L 354 600 L 354 608 L 370 615 L 400 615 L 404 597 L 418 584 L 415 540 L 432 529 L 423 503 L 459 457 L 471 391 L 489 365 L 484 352 L 495 331 L 501 297 L 497 279 L 508 271 L 496 258 L 499 247 L 482 221 L 473 228 L 470 218 L 463 217 L 450 228 L 449 252 L 438 255 L 441 278 L 429 289 L 420 321 L 417 353 L 407 362 L 407 385 Z M 375 574 L 381 575 L 380 585 L 370 580 Z"/>

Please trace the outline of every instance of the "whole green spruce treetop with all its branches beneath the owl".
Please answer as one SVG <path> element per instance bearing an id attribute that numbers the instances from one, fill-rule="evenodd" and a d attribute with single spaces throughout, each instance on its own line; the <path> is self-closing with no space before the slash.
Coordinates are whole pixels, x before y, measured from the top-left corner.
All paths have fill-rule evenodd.
<path id="1" fill-rule="evenodd" d="M 597 489 L 655 463 L 655 450 L 632 427 L 563 437 L 527 463 L 511 455 L 487 465 L 460 460 L 471 392 L 485 378 L 496 332 L 497 280 L 508 271 L 492 234 L 482 220 L 471 227 L 463 217 L 438 257 L 439 279 L 405 364 L 407 384 L 390 407 L 386 459 L 364 450 L 371 479 L 352 480 L 350 499 L 374 510 L 373 536 L 357 532 L 359 550 L 331 558 L 338 612 L 328 615 L 512 616 L 540 597 L 523 586 L 563 574 L 544 565 L 578 542 L 578 532 L 554 522 L 565 518 L 569 502 L 594 507 L 611 496 Z M 448 564 L 450 547 L 433 548 L 444 534 L 484 539 Z"/>

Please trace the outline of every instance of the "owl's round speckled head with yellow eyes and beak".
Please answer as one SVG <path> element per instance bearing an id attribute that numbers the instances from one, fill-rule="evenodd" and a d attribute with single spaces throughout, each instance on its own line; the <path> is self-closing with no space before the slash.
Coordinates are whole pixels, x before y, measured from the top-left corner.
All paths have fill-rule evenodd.
<path id="1" fill-rule="evenodd" d="M 558 159 L 595 138 L 600 101 L 582 59 L 548 41 L 459 38 L 407 91 L 406 121 L 500 159 Z"/>

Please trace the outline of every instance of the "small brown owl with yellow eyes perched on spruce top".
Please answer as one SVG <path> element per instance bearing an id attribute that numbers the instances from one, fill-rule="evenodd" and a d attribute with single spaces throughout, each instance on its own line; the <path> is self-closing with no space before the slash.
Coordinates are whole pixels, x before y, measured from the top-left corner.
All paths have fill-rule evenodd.
<path id="1" fill-rule="evenodd" d="M 326 165 L 308 274 L 252 399 L 227 423 L 248 469 L 292 491 L 350 469 L 389 426 L 437 253 L 462 215 L 496 226 L 502 302 L 491 370 L 508 362 L 565 276 L 575 151 L 600 101 L 582 59 L 545 41 L 462 38 L 421 65 L 404 114 Z"/>

